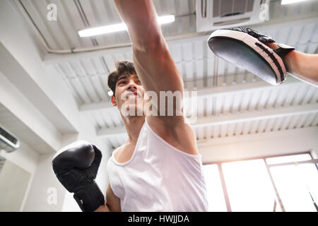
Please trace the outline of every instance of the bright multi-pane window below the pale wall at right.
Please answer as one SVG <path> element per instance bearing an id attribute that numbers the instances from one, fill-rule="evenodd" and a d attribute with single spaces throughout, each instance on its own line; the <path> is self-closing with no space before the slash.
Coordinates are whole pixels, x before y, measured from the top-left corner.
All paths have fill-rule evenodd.
<path id="1" fill-rule="evenodd" d="M 204 165 L 208 210 L 316 212 L 314 162 L 305 153 Z"/>

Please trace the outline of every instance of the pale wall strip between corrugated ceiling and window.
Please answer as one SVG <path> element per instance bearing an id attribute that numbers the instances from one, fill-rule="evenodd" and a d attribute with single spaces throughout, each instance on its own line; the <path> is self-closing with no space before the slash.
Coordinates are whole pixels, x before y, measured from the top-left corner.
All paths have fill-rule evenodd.
<path id="1" fill-rule="evenodd" d="M 199 143 L 204 163 L 312 152 L 318 154 L 318 127 L 273 131 Z"/>

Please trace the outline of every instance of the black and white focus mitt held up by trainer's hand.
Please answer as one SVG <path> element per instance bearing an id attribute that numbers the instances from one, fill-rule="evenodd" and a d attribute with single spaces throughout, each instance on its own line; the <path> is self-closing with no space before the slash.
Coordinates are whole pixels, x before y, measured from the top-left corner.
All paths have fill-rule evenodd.
<path id="1" fill-rule="evenodd" d="M 280 48 L 273 50 L 266 42 L 275 40 L 250 28 L 229 28 L 212 32 L 208 47 L 225 61 L 278 85 L 287 76 L 283 57 L 295 48 L 278 44 Z"/>

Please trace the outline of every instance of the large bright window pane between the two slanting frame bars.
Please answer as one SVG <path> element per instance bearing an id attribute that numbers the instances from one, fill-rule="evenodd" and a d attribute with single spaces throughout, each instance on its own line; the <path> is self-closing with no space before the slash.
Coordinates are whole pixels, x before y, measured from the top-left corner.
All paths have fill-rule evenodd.
<path id="1" fill-rule="evenodd" d="M 222 164 L 233 212 L 271 212 L 276 200 L 264 160 Z"/>

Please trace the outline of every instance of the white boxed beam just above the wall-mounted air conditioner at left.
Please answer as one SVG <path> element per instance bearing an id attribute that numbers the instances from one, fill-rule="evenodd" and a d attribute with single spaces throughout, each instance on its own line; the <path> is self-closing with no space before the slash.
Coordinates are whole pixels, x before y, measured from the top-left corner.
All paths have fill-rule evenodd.
<path id="1" fill-rule="evenodd" d="M 37 153 L 54 153 L 61 148 L 60 131 L 1 71 L 0 90 L 0 123 L 4 124 L 6 129 L 29 142 Z"/>

